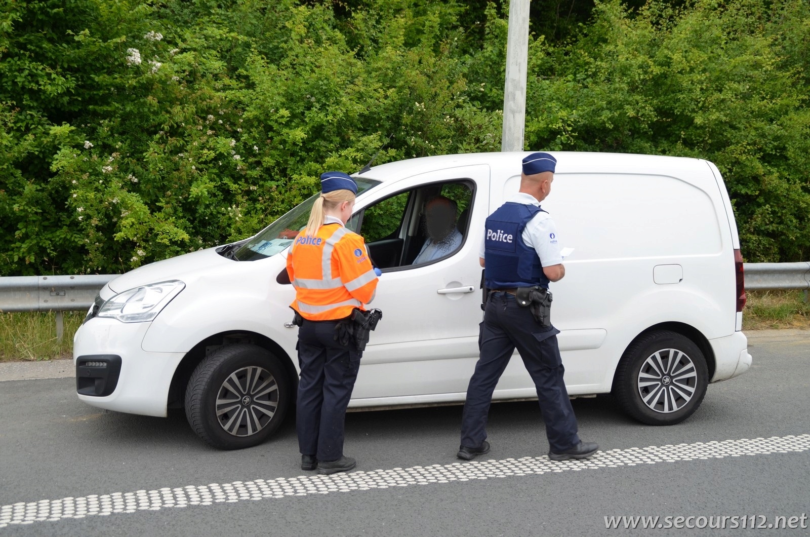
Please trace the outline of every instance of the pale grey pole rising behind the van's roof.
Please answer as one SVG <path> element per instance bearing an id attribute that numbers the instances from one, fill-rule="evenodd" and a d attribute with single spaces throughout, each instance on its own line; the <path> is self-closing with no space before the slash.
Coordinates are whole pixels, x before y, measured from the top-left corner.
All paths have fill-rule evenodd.
<path id="1" fill-rule="evenodd" d="M 526 127 L 526 73 L 529 60 L 529 2 L 530 0 L 509 1 L 501 151 L 523 150 L 523 131 Z"/>

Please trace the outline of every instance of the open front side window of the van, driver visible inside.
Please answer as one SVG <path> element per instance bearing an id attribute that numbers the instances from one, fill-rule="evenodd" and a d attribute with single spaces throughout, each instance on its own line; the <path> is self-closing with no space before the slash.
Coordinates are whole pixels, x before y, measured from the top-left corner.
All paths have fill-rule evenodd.
<path id="1" fill-rule="evenodd" d="M 452 256 L 467 236 L 473 183 L 433 183 L 380 200 L 352 217 L 380 269 L 410 269 Z"/>

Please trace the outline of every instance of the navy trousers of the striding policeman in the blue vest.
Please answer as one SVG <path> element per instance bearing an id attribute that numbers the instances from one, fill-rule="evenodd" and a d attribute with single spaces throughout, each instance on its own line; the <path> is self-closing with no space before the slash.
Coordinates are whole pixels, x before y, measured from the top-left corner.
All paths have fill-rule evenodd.
<path id="1" fill-rule="evenodd" d="M 467 388 L 467 402 L 461 426 L 461 444 L 477 448 L 487 438 L 487 415 L 492 392 L 501 378 L 515 348 L 531 379 L 535 381 L 540 413 L 546 424 L 546 436 L 552 451 L 559 453 L 579 444 L 577 419 L 565 389 L 559 330 L 544 328 L 528 307 L 520 307 L 514 296 L 491 294 L 479 336 L 480 359 Z"/>

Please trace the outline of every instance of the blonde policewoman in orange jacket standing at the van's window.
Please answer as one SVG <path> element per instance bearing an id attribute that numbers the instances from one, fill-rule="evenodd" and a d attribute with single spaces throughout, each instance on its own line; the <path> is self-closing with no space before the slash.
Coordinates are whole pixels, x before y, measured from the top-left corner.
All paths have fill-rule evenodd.
<path id="1" fill-rule="evenodd" d="M 345 339 L 336 334 L 355 308 L 364 310 L 377 288 L 363 238 L 344 227 L 356 193 L 347 174 L 322 174 L 321 195 L 287 257 L 296 289 L 291 307 L 300 321 L 296 428 L 301 469 L 317 467 L 321 474 L 356 466 L 353 458 L 343 456 L 343 423 L 362 352 L 353 342 L 342 344 Z"/>

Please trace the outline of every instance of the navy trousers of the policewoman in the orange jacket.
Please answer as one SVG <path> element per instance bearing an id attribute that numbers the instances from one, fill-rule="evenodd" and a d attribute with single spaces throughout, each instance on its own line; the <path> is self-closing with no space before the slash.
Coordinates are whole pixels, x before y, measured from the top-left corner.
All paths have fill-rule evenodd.
<path id="1" fill-rule="evenodd" d="M 344 346 L 335 341 L 335 324 L 304 320 L 298 329 L 298 448 L 318 461 L 343 456 L 346 407 L 363 355 L 352 343 Z"/>

